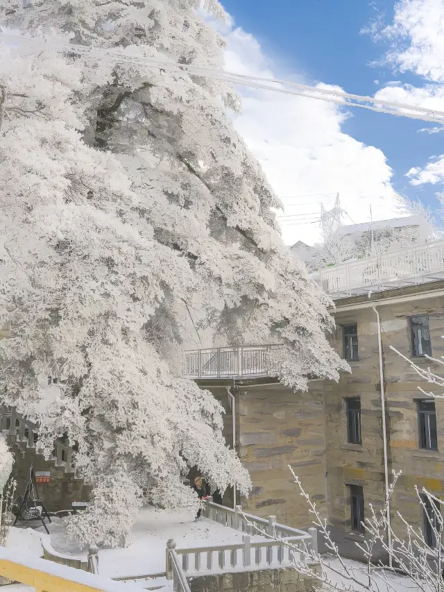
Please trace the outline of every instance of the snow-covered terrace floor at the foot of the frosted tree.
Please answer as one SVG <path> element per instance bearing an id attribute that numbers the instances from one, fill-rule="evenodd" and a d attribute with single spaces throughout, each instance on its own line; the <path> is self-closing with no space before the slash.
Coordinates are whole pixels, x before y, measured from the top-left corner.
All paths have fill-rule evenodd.
<path id="1" fill-rule="evenodd" d="M 48 525 L 51 545 L 65 555 L 86 558 L 87 550 L 67 541 L 61 518 L 51 518 Z M 44 532 L 43 527 L 36 530 Z M 194 514 L 186 511 L 167 512 L 144 508 L 133 527 L 127 548 L 101 548 L 99 570 L 108 577 L 131 577 L 165 571 L 165 550 L 168 539 L 174 539 L 178 548 L 203 547 L 241 543 L 242 533 L 203 518 L 194 522 Z"/>

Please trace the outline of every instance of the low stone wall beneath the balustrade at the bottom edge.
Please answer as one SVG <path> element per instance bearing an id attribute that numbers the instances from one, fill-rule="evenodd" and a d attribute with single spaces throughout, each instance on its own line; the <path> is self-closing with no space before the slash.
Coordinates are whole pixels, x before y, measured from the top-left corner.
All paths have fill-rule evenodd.
<path id="1" fill-rule="evenodd" d="M 191 592 L 310 592 L 320 584 L 292 569 L 266 569 L 188 578 Z M 176 590 L 176 587 L 175 587 Z"/>

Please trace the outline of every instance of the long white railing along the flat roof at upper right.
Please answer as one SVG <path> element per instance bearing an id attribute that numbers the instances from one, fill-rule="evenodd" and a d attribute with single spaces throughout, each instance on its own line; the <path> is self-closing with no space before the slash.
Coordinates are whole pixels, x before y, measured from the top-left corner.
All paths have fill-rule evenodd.
<path id="1" fill-rule="evenodd" d="M 444 240 L 327 267 L 313 274 L 333 298 L 444 279 Z"/>

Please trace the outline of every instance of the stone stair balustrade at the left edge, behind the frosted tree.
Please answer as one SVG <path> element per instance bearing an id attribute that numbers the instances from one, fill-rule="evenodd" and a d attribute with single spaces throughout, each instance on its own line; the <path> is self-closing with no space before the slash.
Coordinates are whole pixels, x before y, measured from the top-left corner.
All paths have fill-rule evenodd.
<path id="1" fill-rule="evenodd" d="M 38 425 L 18 414 L 15 407 L 0 405 L 0 430 L 17 442 L 26 443 L 26 448 L 35 448 L 37 452 Z M 58 466 L 65 467 L 65 473 L 74 473 L 73 450 L 62 440 L 54 441 L 53 458 Z"/>

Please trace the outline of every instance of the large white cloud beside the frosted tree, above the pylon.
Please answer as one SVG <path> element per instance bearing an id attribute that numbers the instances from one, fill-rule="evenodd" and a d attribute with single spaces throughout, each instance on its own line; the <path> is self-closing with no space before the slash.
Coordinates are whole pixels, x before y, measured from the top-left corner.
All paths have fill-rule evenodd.
<path id="1" fill-rule="evenodd" d="M 228 71 L 289 78 L 289 74 L 275 71 L 255 37 L 232 24 L 223 33 L 228 41 Z M 316 217 L 303 221 L 304 214 L 320 212 L 321 201 L 331 208 L 336 192 L 341 206 L 355 222 L 370 219 L 370 204 L 374 219 L 398 215 L 392 171 L 382 151 L 341 131 L 350 114 L 324 101 L 246 87 L 240 92 L 243 109 L 236 119 L 237 129 L 261 162 L 278 196 L 330 194 L 282 200 L 286 215 L 302 214 L 297 225 L 282 226 L 287 244 L 297 240 L 312 244 L 318 239 L 318 225 L 311 223 Z"/>

